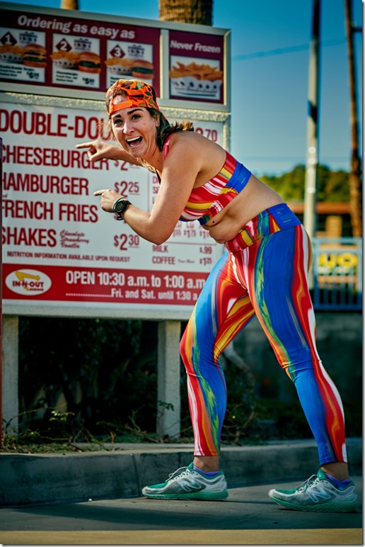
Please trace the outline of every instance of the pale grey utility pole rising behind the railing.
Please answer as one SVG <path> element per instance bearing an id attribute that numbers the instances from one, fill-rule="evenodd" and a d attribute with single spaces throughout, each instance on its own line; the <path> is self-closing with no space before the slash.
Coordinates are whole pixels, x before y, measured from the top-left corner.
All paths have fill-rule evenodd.
<path id="1" fill-rule="evenodd" d="M 313 0 L 312 38 L 309 52 L 307 156 L 303 223 L 309 237 L 315 235 L 318 167 L 318 67 L 320 0 Z"/>

